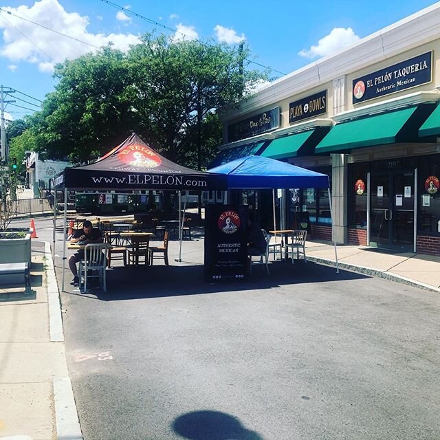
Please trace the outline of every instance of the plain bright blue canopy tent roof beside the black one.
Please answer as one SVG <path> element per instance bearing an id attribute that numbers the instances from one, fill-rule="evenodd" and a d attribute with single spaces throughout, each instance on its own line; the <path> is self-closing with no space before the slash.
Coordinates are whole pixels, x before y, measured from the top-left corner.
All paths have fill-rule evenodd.
<path id="1" fill-rule="evenodd" d="M 329 188 L 329 176 L 261 156 L 245 156 L 208 173 L 228 175 L 228 188 Z"/>

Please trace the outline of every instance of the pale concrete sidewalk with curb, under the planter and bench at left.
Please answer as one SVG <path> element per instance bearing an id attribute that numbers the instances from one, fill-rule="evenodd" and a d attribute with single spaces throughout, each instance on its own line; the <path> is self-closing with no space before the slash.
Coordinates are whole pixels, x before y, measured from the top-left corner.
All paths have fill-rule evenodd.
<path id="1" fill-rule="evenodd" d="M 31 284 L 0 289 L 0 439 L 81 440 L 49 243 L 32 241 Z"/>

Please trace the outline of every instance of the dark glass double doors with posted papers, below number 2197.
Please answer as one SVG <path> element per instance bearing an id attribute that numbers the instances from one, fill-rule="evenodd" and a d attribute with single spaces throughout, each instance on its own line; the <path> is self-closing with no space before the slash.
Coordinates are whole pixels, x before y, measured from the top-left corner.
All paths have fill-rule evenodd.
<path id="1" fill-rule="evenodd" d="M 412 252 L 415 221 L 414 170 L 374 171 L 370 179 L 370 245 Z"/>

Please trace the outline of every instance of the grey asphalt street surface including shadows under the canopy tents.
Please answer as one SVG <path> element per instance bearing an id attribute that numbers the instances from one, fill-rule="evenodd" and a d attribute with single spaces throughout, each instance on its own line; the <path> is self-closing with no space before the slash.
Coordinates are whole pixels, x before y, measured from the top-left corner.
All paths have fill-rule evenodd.
<path id="1" fill-rule="evenodd" d="M 207 285 L 202 249 L 62 294 L 85 440 L 440 438 L 439 296 L 313 263 Z"/>

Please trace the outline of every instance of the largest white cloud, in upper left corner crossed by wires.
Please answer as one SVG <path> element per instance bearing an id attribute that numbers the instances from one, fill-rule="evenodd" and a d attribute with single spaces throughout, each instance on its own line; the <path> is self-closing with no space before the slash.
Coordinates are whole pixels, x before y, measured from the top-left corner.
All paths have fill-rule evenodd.
<path id="1" fill-rule="evenodd" d="M 6 21 L 0 21 L 0 30 L 3 32 L 0 55 L 8 58 L 12 63 L 27 61 L 36 64 L 41 72 L 53 72 L 54 65 L 66 58 L 73 59 L 87 52 L 96 52 L 96 48 L 91 46 L 101 47 L 113 43 L 115 49 L 126 51 L 129 45 L 139 43 L 137 35 L 134 34 L 91 34 L 87 32 L 89 17 L 83 17 L 78 12 L 67 12 L 58 0 L 41 0 L 36 1 L 31 7 L 21 5 L 18 8 L 3 9 L 87 43 L 83 44 L 56 35 L 54 32 L 8 15 L 8 21 L 13 26 Z"/>

